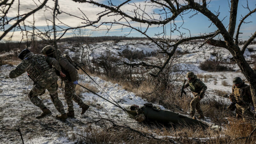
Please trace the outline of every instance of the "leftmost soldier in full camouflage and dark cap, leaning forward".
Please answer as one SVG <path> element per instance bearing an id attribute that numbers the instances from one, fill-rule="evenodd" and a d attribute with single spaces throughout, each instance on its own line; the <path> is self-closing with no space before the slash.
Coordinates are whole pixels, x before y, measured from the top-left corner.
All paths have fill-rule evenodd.
<path id="1" fill-rule="evenodd" d="M 16 78 L 24 72 L 28 72 L 28 74 L 34 80 L 35 85 L 33 85 L 33 88 L 28 93 L 28 98 L 34 105 L 41 108 L 43 111 L 43 113 L 39 116 L 36 116 L 36 118 L 39 119 L 51 115 L 51 111 L 46 108 L 42 100 L 37 97 L 39 94 L 44 92 L 45 89 L 47 89 L 50 93 L 51 100 L 55 108 L 61 114 L 57 115 L 56 117 L 65 120 L 67 118 L 67 115 L 64 111 L 61 101 L 58 98 L 57 93 L 58 77 L 50 66 L 54 65 L 60 71 L 61 75 L 65 76 L 61 71 L 60 65 L 57 63 L 57 60 L 45 57 L 43 55 L 34 54 L 28 49 L 24 49 L 18 57 L 22 61 L 15 69 L 12 69 L 9 77 Z"/>

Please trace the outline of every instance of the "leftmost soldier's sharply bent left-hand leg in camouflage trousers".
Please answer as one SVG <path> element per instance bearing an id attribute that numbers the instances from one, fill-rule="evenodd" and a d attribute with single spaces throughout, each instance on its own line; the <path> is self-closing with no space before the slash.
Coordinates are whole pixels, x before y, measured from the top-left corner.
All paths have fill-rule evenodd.
<path id="1" fill-rule="evenodd" d="M 44 89 L 43 87 L 41 87 L 41 86 L 38 85 L 38 84 L 35 84 L 35 85 L 33 86 L 33 88 L 30 90 L 30 92 L 28 93 L 28 98 L 30 99 L 30 101 L 31 101 L 34 105 L 36 105 L 37 107 L 41 108 L 42 110 L 43 110 L 44 108 L 46 108 L 46 107 L 45 107 L 43 101 L 40 100 L 37 96 L 38 96 L 40 93 L 44 92 L 44 90 L 45 90 L 45 89 Z"/>

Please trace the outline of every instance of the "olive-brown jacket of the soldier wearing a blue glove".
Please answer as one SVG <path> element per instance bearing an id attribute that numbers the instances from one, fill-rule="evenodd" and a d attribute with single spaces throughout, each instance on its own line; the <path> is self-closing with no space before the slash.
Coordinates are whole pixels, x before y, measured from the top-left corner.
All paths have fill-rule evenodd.
<path id="1" fill-rule="evenodd" d="M 73 66 L 72 63 L 68 61 L 66 57 L 63 55 L 60 55 L 60 62 L 62 72 L 66 75 L 66 77 L 61 77 L 61 80 L 68 80 L 70 82 L 74 82 L 77 80 L 77 70 Z M 57 75 L 60 76 L 59 72 L 56 71 Z"/>

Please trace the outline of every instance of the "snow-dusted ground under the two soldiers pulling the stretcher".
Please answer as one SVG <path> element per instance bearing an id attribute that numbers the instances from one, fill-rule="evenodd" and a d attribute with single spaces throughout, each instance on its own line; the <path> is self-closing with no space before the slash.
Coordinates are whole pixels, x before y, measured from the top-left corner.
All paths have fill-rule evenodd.
<path id="1" fill-rule="evenodd" d="M 54 108 L 49 93 L 41 96 L 44 104 L 48 107 L 53 115 L 43 119 L 36 119 L 35 116 L 41 113 L 41 110 L 34 106 L 27 95 L 32 87 L 32 82 L 26 75 L 10 79 L 8 77 L 10 70 L 14 68 L 8 65 L 0 67 L 0 121 L 1 127 L 4 129 L 20 128 L 25 143 L 74 143 L 69 141 L 67 134 L 76 133 L 77 127 L 86 126 L 87 122 L 97 118 L 111 118 L 116 123 L 139 125 L 135 120 L 129 118 L 127 114 L 120 108 L 110 104 L 109 102 L 99 98 L 98 96 L 83 92 L 82 100 L 91 105 L 84 115 L 80 115 L 81 108 L 74 103 L 75 117 L 68 119 L 67 122 L 61 122 L 54 118 L 54 114 L 58 114 Z M 123 108 L 129 108 L 132 104 L 142 106 L 147 103 L 146 100 L 137 97 L 132 92 L 127 92 L 118 84 L 112 84 L 101 80 L 99 77 L 92 77 L 114 100 L 118 101 Z M 80 84 L 90 84 L 97 87 L 92 80 L 85 75 L 80 75 Z M 60 100 L 67 108 L 66 102 L 61 97 L 61 89 L 59 88 Z M 108 95 L 100 90 L 99 95 L 106 99 Z M 164 109 L 163 106 L 159 106 Z M 17 131 L 0 130 L 0 141 L 4 143 L 20 143 L 20 135 Z M 1 142 L 0 142 L 1 143 Z"/>

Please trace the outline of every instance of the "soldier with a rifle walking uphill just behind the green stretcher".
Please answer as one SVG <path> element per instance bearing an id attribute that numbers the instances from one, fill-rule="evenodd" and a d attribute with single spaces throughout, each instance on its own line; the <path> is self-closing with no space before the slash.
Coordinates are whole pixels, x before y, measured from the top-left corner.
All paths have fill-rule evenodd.
<path id="1" fill-rule="evenodd" d="M 200 100 L 204 97 L 204 93 L 207 86 L 197 78 L 197 76 L 192 72 L 187 73 L 188 83 L 185 84 L 185 88 L 189 86 L 190 90 L 194 95 L 194 99 L 190 102 L 190 116 L 196 119 L 195 112 L 197 111 L 200 116 L 198 119 L 204 118 L 203 111 L 200 107 Z"/>

